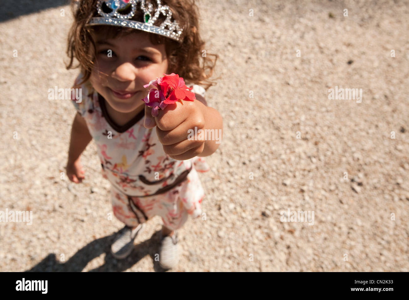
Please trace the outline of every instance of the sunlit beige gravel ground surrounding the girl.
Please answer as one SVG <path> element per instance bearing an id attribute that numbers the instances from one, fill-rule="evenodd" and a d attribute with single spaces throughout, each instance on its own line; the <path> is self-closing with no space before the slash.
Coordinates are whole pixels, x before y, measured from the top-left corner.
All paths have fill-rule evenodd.
<path id="1" fill-rule="evenodd" d="M 408 1 L 198 4 L 224 139 L 200 175 L 206 220 L 180 230 L 172 271 L 409 271 Z M 93 142 L 84 182 L 60 179 L 75 109 L 47 91 L 78 73 L 64 67 L 69 7 L 2 21 L 0 210 L 33 220 L 0 223 L 0 271 L 161 271 L 160 217 L 129 258 L 109 254 L 123 224 L 107 220 Z M 335 86 L 362 88 L 362 103 L 329 100 Z M 281 222 L 288 209 L 314 224 Z"/>

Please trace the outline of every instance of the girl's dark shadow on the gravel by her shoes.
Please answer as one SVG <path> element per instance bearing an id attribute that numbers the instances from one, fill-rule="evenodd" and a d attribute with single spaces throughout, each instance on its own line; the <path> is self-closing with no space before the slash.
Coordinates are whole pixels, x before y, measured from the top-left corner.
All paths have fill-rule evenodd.
<path id="1" fill-rule="evenodd" d="M 90 242 L 88 245 L 79 249 L 74 256 L 66 262 L 60 262 L 54 253 L 50 253 L 42 261 L 26 272 L 81 272 L 85 266 L 94 258 L 105 255 L 105 263 L 100 267 L 90 270 L 90 272 L 120 272 L 125 271 L 144 258 L 147 254 L 151 256 L 153 261 L 153 269 L 155 272 L 165 271 L 160 267 L 159 262 L 155 258 L 159 253 L 159 233 L 156 231 L 149 240 L 135 245 L 132 253 L 123 260 L 115 259 L 111 252 L 111 244 L 115 237 L 115 233 L 110 236 L 105 236 Z"/>

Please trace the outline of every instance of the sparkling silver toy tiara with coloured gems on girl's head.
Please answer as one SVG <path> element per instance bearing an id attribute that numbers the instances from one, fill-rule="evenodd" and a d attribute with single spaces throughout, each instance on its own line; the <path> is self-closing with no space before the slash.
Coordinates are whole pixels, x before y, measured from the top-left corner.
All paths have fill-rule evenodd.
<path id="1" fill-rule="evenodd" d="M 139 2 L 140 10 L 144 12 L 144 22 L 129 20 L 135 16 L 135 11 L 137 10 L 137 4 Z M 179 42 L 181 40 L 183 29 L 179 27 L 177 21 L 173 20 L 173 22 L 171 22 L 172 11 L 169 9 L 169 6 L 162 5 L 160 0 L 156 0 L 157 9 L 153 10 L 153 5 L 148 1 L 148 8 L 146 8 L 145 2 L 145 0 L 98 0 L 97 11 L 101 17 L 91 18 L 87 25 L 107 24 L 129 27 L 160 34 Z M 121 13 L 121 11 L 124 12 L 128 10 L 129 7 L 130 12 L 128 14 L 125 15 Z M 111 11 L 106 13 L 103 11 L 103 8 L 105 8 L 106 11 L 106 8 Z M 165 21 L 159 27 L 153 25 L 161 13 L 166 16 Z"/>

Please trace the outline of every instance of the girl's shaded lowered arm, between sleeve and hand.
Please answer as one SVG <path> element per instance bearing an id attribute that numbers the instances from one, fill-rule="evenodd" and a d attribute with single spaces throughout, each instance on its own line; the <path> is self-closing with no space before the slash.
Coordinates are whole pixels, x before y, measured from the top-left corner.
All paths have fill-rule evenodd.
<path id="1" fill-rule="evenodd" d="M 75 162 L 92 140 L 85 121 L 77 113 L 72 122 L 70 149 L 68 150 L 68 163 Z"/>

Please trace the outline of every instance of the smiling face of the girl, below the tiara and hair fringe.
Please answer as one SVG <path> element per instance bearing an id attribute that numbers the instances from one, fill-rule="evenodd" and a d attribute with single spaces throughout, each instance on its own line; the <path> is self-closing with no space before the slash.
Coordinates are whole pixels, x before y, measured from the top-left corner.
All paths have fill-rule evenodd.
<path id="1" fill-rule="evenodd" d="M 144 106 L 141 99 L 148 94 L 144 85 L 167 74 L 165 45 L 153 45 L 148 33 L 137 30 L 115 39 L 103 34 L 93 38 L 97 57 L 90 81 L 94 89 L 115 111 L 130 113 Z"/>

